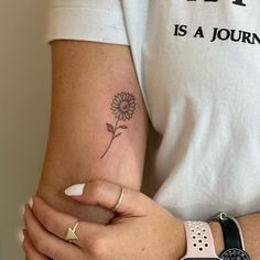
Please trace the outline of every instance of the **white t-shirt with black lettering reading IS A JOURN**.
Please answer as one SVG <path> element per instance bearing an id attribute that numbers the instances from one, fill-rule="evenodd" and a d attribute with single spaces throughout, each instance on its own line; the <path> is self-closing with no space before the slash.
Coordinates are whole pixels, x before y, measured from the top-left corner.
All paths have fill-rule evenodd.
<path id="1" fill-rule="evenodd" d="M 183 219 L 260 210 L 259 0 L 52 0 L 47 21 L 46 41 L 130 45 L 156 202 Z"/>

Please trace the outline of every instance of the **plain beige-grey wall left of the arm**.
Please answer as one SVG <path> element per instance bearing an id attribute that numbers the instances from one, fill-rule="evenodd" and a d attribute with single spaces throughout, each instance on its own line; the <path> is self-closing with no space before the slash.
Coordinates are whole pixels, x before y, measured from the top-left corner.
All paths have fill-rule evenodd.
<path id="1" fill-rule="evenodd" d="M 35 192 L 48 130 L 46 0 L 0 0 L 0 260 L 24 259 L 20 205 Z"/>

